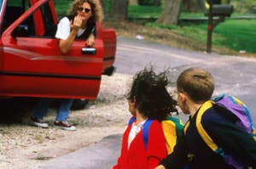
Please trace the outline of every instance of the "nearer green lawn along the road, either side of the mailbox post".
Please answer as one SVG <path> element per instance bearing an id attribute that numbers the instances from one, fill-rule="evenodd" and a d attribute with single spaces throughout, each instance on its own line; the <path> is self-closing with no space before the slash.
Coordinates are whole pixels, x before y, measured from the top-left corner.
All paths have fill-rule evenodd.
<path id="1" fill-rule="evenodd" d="M 148 23 L 147 26 L 168 29 L 195 41 L 207 42 L 207 23 L 182 26 Z M 213 29 L 212 44 L 236 51 L 256 53 L 255 27 L 255 20 L 226 20 Z"/>

